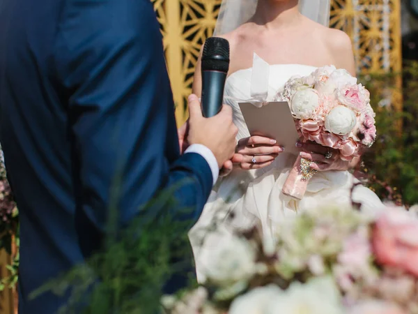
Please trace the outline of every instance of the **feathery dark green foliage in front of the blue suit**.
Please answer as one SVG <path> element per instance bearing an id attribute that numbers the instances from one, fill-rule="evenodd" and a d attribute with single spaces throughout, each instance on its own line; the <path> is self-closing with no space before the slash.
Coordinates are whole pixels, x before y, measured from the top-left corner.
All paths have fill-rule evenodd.
<path id="1" fill-rule="evenodd" d="M 185 219 L 189 209 L 177 213 L 161 209 L 173 208 L 167 206 L 174 202 L 171 195 L 173 190 L 165 191 L 146 204 L 140 212 L 153 216 L 137 218 L 117 236 L 112 231 L 116 226 L 110 225 L 104 250 L 31 297 L 49 291 L 62 295 L 69 290 L 70 300 L 59 314 L 159 313 L 163 293 L 173 292 L 167 282 L 180 281 L 184 288 L 196 285 L 187 236 L 191 225 Z M 80 304 L 88 305 L 80 310 Z"/>

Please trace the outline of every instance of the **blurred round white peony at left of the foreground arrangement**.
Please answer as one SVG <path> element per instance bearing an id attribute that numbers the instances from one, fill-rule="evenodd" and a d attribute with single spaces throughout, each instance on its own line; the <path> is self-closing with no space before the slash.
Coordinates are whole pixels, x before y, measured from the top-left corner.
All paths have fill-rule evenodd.
<path id="1" fill-rule="evenodd" d="M 217 243 L 205 245 L 199 252 L 206 280 L 222 287 L 247 281 L 257 270 L 256 248 L 228 230 L 217 232 L 219 234 L 212 238 L 217 239 Z"/>

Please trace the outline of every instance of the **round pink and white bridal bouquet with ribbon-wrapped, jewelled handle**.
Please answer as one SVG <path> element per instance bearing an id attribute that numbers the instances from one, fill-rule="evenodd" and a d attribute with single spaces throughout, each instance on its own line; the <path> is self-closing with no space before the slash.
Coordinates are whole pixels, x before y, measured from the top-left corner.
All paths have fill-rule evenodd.
<path id="1" fill-rule="evenodd" d="M 288 101 L 303 142 L 337 149 L 343 160 L 359 156 L 376 138 L 369 91 L 346 70 L 325 66 L 309 76 L 292 77 L 277 100 Z M 284 194 L 302 199 L 309 179 L 316 173 L 310 163 L 297 158 L 284 184 Z"/>

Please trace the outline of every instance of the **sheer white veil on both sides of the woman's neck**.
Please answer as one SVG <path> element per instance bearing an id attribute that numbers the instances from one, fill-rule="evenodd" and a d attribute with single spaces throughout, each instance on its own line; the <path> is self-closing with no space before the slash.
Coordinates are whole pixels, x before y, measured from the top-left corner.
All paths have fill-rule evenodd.
<path id="1" fill-rule="evenodd" d="M 229 33 L 247 22 L 256 12 L 258 0 L 223 0 L 214 36 Z M 299 10 L 309 19 L 330 24 L 330 0 L 299 0 Z"/>

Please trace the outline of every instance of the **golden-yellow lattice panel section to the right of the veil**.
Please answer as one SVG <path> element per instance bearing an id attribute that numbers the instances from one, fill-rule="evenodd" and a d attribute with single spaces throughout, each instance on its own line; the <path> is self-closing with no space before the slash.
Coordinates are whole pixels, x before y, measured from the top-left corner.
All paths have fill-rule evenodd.
<path id="1" fill-rule="evenodd" d="M 353 40 L 358 73 L 400 73 L 401 4 L 399 0 L 333 0 L 331 27 Z M 401 110 L 401 76 L 382 86 L 382 97 Z"/>

